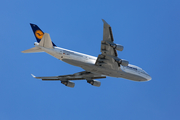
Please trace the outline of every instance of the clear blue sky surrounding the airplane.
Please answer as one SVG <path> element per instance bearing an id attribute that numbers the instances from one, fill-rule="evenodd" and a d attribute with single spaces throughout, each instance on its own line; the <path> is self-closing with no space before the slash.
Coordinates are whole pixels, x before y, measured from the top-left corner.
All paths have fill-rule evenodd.
<path id="1" fill-rule="evenodd" d="M 1 120 L 179 120 L 180 1 L 178 0 L 9 0 L 0 4 Z M 152 80 L 102 79 L 101 87 L 75 81 L 68 88 L 37 76 L 83 71 L 33 47 L 29 23 L 60 47 L 98 56 L 105 19 L 118 52 L 146 70 Z"/>

